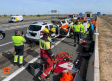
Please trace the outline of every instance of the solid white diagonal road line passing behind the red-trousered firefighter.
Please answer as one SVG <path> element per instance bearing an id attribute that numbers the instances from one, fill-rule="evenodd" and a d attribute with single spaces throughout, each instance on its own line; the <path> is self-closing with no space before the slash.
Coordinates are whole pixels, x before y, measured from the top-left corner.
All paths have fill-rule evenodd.
<path id="1" fill-rule="evenodd" d="M 62 38 L 60 41 L 58 41 L 55 45 L 58 45 L 61 41 L 63 41 L 66 37 Z M 54 48 L 54 45 L 51 47 Z M 16 70 L 15 72 L 13 72 L 12 74 L 10 74 L 9 76 L 7 76 L 7 78 L 3 79 L 2 81 L 10 81 L 12 78 L 14 78 L 16 75 L 18 75 L 20 72 L 22 72 L 25 68 L 28 67 L 29 63 L 33 63 L 36 60 L 38 60 L 40 56 L 36 56 L 35 58 L 33 58 L 31 61 L 29 61 L 27 64 L 25 64 L 24 67 L 19 68 L 18 70 Z"/>

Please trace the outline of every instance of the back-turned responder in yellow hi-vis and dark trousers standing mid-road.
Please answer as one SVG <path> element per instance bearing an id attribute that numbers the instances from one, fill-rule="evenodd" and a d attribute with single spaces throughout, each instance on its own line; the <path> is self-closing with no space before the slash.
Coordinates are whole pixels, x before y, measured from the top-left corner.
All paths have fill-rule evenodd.
<path id="1" fill-rule="evenodd" d="M 78 25 L 78 22 L 76 22 L 76 25 L 73 26 L 73 33 L 74 33 L 74 46 L 76 47 L 76 44 L 80 42 L 80 30 L 81 27 L 80 25 Z M 76 40 L 78 40 L 78 42 L 76 43 Z"/>

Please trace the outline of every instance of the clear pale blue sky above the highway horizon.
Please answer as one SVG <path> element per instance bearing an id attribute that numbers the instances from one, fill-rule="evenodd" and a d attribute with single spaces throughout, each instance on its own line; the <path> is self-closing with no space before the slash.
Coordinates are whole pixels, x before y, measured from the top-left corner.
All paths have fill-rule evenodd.
<path id="1" fill-rule="evenodd" d="M 112 0 L 0 0 L 0 15 L 79 14 L 91 11 L 93 14 L 112 14 Z"/>

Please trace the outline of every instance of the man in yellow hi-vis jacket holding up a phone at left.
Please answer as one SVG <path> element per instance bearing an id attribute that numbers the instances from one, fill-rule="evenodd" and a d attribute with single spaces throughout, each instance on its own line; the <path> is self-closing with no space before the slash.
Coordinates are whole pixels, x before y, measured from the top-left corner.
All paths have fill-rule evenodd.
<path id="1" fill-rule="evenodd" d="M 12 41 L 15 47 L 15 56 L 14 56 L 14 65 L 18 62 L 19 55 L 19 66 L 23 65 L 23 51 L 24 51 L 24 42 L 26 42 L 24 38 L 24 34 L 21 35 L 18 30 L 15 30 L 15 36 L 12 36 Z"/>

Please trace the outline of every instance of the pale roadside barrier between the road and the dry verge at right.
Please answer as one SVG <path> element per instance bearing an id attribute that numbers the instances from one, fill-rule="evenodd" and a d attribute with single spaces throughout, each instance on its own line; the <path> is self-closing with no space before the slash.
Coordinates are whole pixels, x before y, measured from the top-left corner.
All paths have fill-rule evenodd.
<path id="1" fill-rule="evenodd" d="M 96 32 L 97 32 L 96 28 Z M 98 35 L 94 35 L 94 52 L 91 55 L 88 63 L 87 69 L 87 81 L 100 81 L 100 72 L 99 72 L 99 52 L 98 52 Z"/>

